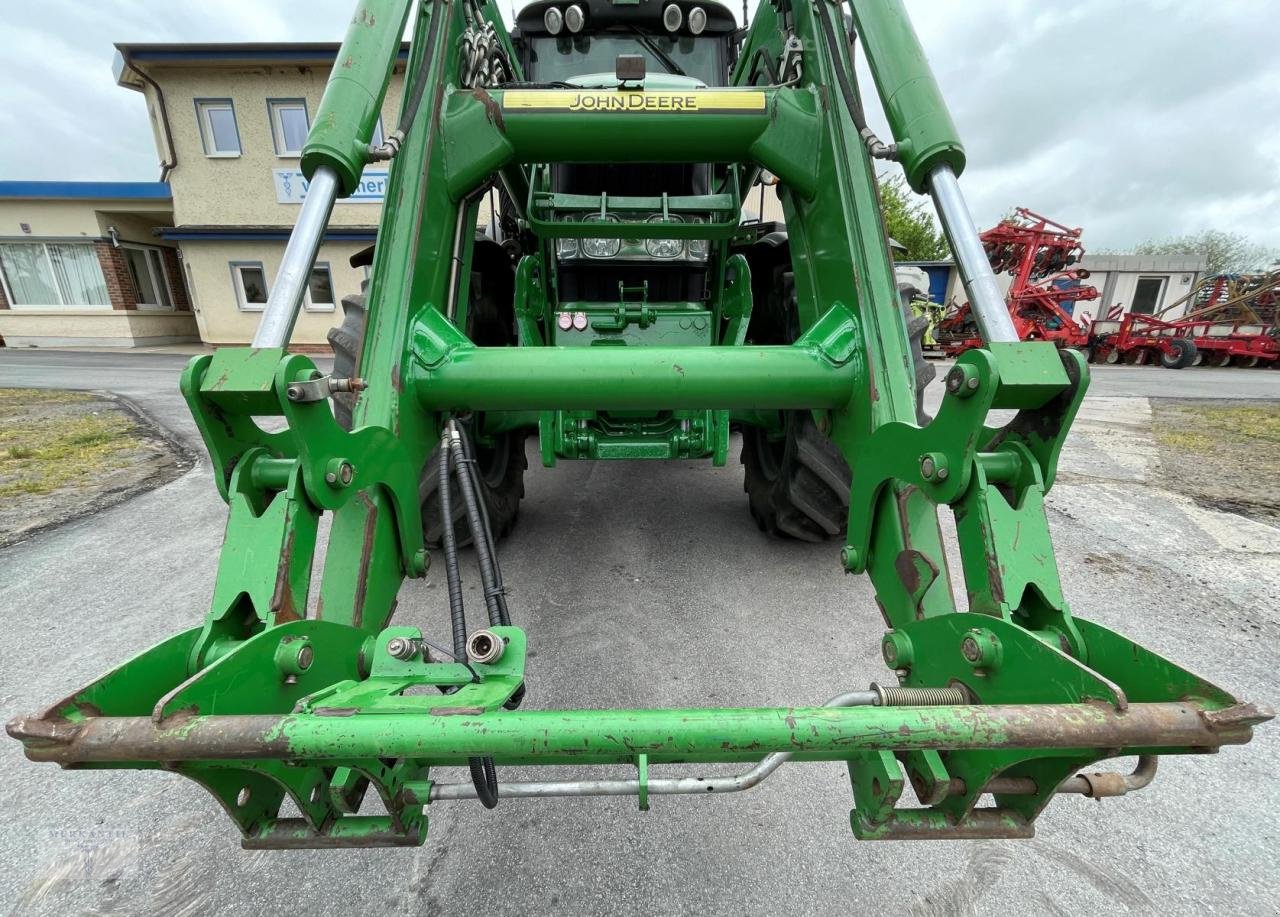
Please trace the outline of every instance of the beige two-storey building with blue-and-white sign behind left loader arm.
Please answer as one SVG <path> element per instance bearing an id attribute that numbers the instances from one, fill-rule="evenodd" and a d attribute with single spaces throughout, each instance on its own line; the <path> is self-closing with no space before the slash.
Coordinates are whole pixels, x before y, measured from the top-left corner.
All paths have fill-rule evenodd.
<path id="1" fill-rule="evenodd" d="M 200 338 L 247 343 L 257 327 L 307 183 L 300 154 L 338 45 L 116 45 L 116 83 L 146 101 L 173 195 L 159 241 L 175 246 Z M 403 61 L 383 106 L 399 111 Z M 379 133 L 381 126 L 379 126 Z M 375 141 L 379 141 L 375 137 Z M 334 207 L 293 342 L 325 346 L 342 297 L 357 293 L 381 216 L 387 165 Z"/>

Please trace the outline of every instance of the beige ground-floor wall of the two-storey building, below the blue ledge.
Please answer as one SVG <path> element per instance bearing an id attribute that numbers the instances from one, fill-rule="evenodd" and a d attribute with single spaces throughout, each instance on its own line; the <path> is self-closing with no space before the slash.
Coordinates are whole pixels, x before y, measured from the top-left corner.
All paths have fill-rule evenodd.
<path id="1" fill-rule="evenodd" d="M 342 297 L 360 292 L 365 279 L 362 268 L 348 260 L 367 243 L 332 242 L 320 248 L 320 261 L 333 272 L 334 311 L 303 311 L 293 330 L 294 345 L 326 346 L 325 333 L 342 324 Z M 192 289 L 200 336 L 206 343 L 247 343 L 257 328 L 261 312 L 243 311 L 232 284 L 233 261 L 260 261 L 266 269 L 268 284 L 280 268 L 284 242 L 183 242 L 183 264 Z"/>

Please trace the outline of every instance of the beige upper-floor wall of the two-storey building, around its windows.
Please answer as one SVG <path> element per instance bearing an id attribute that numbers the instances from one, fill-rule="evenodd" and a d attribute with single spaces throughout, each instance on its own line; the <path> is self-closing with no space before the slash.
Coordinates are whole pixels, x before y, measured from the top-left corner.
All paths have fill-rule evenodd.
<path id="1" fill-rule="evenodd" d="M 293 68 L 154 68 L 161 85 L 173 128 L 178 168 L 173 186 L 177 225 L 292 225 L 300 205 L 278 204 L 274 169 L 296 169 L 297 156 L 278 156 L 268 115 L 269 99 L 306 99 L 314 120 L 329 78 L 328 67 Z M 402 77 L 396 74 L 383 104 L 383 128 L 396 127 Z M 155 106 L 147 88 L 148 108 Z M 197 99 L 230 99 L 239 128 L 241 155 L 205 155 L 196 115 Z M 159 145 L 160 155 L 166 155 Z M 337 225 L 375 225 L 381 207 L 376 204 L 343 204 L 334 209 Z"/>

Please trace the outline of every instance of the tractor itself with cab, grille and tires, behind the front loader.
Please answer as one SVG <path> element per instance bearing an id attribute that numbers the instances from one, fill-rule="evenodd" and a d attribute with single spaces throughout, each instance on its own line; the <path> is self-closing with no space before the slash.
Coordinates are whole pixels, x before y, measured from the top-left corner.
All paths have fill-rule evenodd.
<path id="1" fill-rule="evenodd" d="M 561 90 L 570 93 L 561 101 L 576 110 L 617 104 L 628 97 L 620 92 L 628 85 L 660 92 L 659 104 L 676 105 L 689 92 L 705 100 L 707 90 L 732 86 L 741 38 L 732 13 L 716 3 L 544 0 L 517 17 L 515 58 L 497 32 L 474 47 L 476 69 L 489 82 L 518 72 L 518 83 L 503 85 Z M 785 49 L 781 61 L 758 50 L 750 63 L 746 82 L 753 86 L 795 82 L 803 67 L 794 49 Z M 680 140 L 672 142 L 678 146 Z M 520 178 L 517 201 L 512 183 L 498 175 L 493 190 L 481 190 L 499 204 L 474 241 L 467 336 L 484 346 L 521 347 L 794 343 L 803 324 L 786 227 L 741 219 L 742 201 L 760 181 L 762 169 L 744 163 L 535 163 Z M 612 234 L 600 233 L 600 224 Z M 680 236 L 664 238 L 672 225 Z M 520 283 L 540 284 L 545 305 L 522 323 L 515 270 L 525 256 L 531 260 Z M 730 291 L 737 291 L 736 298 L 726 297 Z M 334 374 L 352 377 L 360 368 L 364 297 L 344 309 L 346 320 L 329 338 Z M 934 374 L 920 350 L 925 328 L 918 320 L 908 325 L 918 403 Z M 339 396 L 340 420 L 349 419 L 353 403 L 353 396 Z M 732 428 L 742 433 L 748 505 L 762 530 L 814 542 L 845 530 L 849 465 L 806 411 L 561 410 L 536 423 L 530 416 L 520 429 L 508 421 L 502 432 L 476 420 L 468 425 L 479 489 L 499 538 L 513 525 L 524 496 L 527 434 L 538 435 L 548 466 L 558 458 L 710 458 L 723 465 Z M 454 516 L 465 543 L 470 534 L 461 505 Z M 422 524 L 428 543 L 439 546 L 434 462 L 422 480 Z"/>

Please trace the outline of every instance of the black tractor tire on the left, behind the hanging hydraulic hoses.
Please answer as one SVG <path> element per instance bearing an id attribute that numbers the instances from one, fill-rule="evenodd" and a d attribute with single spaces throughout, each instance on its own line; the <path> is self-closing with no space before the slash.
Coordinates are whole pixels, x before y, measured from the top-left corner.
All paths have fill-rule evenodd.
<path id="1" fill-rule="evenodd" d="M 343 321 L 329 329 L 329 346 L 333 347 L 333 374 L 335 378 L 357 375 L 360 352 L 365 341 L 365 295 L 348 296 L 342 301 Z M 509 323 L 503 320 L 497 302 L 484 296 L 472 297 L 467 315 L 467 336 L 479 343 L 499 345 L 508 334 Z M 356 396 L 333 396 L 333 415 L 338 424 L 349 430 Z M 476 443 L 476 437 L 471 437 Z M 525 470 L 529 460 L 525 457 L 525 434 L 518 430 L 495 437 L 492 447 L 475 446 L 476 470 L 480 473 L 480 498 L 489 512 L 489 524 L 494 538 L 506 538 L 516 524 L 520 501 L 525 496 Z M 440 547 L 444 525 L 440 520 L 440 447 L 436 446 L 422 466 L 419 479 L 417 498 L 422 512 L 422 533 L 429 548 Z M 453 530 L 460 546 L 471 543 L 471 528 L 467 524 L 466 505 L 461 497 L 453 499 Z"/>

